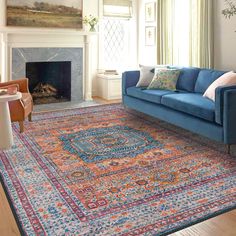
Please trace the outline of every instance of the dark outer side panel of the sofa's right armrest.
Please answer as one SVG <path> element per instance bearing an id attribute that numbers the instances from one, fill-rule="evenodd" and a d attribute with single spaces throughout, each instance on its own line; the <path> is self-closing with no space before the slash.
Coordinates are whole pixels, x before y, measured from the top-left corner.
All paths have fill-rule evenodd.
<path id="1" fill-rule="evenodd" d="M 224 142 L 236 144 L 236 88 L 224 92 Z"/>

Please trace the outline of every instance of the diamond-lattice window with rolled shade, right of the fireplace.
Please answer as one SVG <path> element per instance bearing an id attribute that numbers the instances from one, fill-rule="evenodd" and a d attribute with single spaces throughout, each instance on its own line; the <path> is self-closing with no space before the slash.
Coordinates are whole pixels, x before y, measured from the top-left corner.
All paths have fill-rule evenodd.
<path id="1" fill-rule="evenodd" d="M 129 63 L 132 2 L 104 0 L 100 23 L 101 69 L 123 70 Z"/>

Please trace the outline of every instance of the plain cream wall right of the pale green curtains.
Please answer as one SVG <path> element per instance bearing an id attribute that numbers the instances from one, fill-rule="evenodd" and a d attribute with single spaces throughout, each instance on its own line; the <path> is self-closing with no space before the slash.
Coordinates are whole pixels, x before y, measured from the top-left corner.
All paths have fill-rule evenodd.
<path id="1" fill-rule="evenodd" d="M 236 70 L 236 15 L 226 19 L 221 11 L 225 1 L 214 0 L 214 67 Z"/>

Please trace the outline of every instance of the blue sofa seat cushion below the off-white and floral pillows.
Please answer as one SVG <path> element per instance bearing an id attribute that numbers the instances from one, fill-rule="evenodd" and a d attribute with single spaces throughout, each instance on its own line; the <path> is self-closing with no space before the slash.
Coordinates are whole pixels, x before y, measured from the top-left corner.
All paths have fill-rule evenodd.
<path id="1" fill-rule="evenodd" d="M 129 96 L 139 98 L 145 101 L 153 102 L 160 104 L 161 97 L 165 94 L 173 94 L 173 91 L 170 90 L 147 90 L 144 88 L 129 87 L 127 89 L 127 94 Z"/>

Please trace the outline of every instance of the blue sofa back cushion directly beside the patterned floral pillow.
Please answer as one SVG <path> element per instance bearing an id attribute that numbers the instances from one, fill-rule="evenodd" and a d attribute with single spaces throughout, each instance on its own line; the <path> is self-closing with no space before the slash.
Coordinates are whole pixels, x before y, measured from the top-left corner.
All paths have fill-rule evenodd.
<path id="1" fill-rule="evenodd" d="M 176 84 L 177 90 L 194 92 L 194 86 L 200 69 L 194 67 L 180 68 L 179 79 Z"/>

